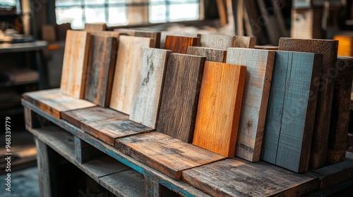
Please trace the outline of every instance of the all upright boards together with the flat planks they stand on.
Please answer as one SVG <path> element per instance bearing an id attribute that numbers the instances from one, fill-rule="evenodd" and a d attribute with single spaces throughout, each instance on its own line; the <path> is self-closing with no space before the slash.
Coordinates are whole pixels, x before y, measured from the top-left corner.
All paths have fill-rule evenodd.
<path id="1" fill-rule="evenodd" d="M 317 180 L 294 172 L 345 158 L 353 58 L 336 64 L 334 40 L 281 38 L 279 44 L 274 51 L 249 49 L 253 37 L 69 30 L 60 89 L 23 98 L 197 188 L 210 182 L 193 177 L 213 166 L 228 167 L 217 174 L 233 179 L 252 173 L 236 169 L 241 165 L 280 172 L 273 163 L 293 172 L 269 186 L 289 173 L 299 195 L 316 189 Z M 260 159 L 268 163 L 248 162 Z"/>

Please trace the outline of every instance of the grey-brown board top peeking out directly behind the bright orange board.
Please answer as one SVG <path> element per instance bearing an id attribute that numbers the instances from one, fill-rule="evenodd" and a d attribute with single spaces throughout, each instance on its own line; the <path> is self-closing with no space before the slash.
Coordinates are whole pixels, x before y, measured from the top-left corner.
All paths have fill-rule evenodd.
<path id="1" fill-rule="evenodd" d="M 206 61 L 225 63 L 227 51 L 222 49 L 212 49 L 202 46 L 189 46 L 186 54 L 206 57 Z"/>

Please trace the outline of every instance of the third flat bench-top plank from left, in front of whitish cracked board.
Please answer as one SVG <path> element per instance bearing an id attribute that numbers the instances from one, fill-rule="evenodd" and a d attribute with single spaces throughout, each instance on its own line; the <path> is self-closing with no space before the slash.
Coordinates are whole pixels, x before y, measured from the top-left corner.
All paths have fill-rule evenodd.
<path id="1" fill-rule="evenodd" d="M 87 122 L 82 125 L 82 129 L 111 146 L 115 146 L 118 138 L 152 131 L 149 127 L 128 120 L 126 116 Z"/>

